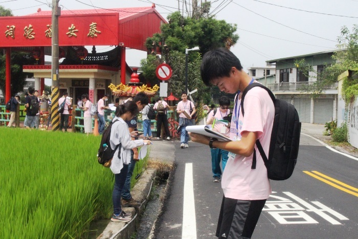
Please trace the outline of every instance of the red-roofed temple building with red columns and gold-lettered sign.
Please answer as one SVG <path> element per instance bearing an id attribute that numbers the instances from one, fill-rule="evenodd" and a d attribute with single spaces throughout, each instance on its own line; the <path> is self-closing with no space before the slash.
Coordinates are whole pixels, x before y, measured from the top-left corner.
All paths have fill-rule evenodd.
<path id="1" fill-rule="evenodd" d="M 51 78 L 51 65 L 44 56 L 51 55 L 52 12 L 39 11 L 26 16 L 0 17 L 0 49 L 6 50 L 6 97 L 10 99 L 10 52 L 31 52 L 37 64 L 24 66 L 34 74 L 35 90 L 44 90 L 44 78 Z M 147 37 L 160 32 L 167 21 L 151 7 L 62 10 L 58 17 L 60 95 L 69 92 L 74 99 L 87 93 L 92 102 L 105 93 L 110 84 L 126 85 L 132 70 L 125 61 L 126 48 L 148 51 Z M 84 46 L 93 46 L 88 52 Z M 96 46 L 115 46 L 97 53 Z M 150 50 L 149 50 L 150 53 Z"/>

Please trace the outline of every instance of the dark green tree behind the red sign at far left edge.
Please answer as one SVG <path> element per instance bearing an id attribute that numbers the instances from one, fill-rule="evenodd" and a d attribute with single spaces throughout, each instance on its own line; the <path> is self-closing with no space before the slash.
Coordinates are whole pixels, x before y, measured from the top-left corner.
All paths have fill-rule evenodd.
<path id="1" fill-rule="evenodd" d="M 0 6 L 1 16 L 12 16 L 10 9 L 5 9 Z M 25 79 L 32 77 L 31 73 L 24 73 L 23 66 L 26 64 L 34 64 L 35 59 L 29 53 L 25 52 L 11 52 L 11 94 L 14 95 L 17 92 L 24 90 Z M 6 55 L 3 51 L 0 51 L 0 90 L 5 95 L 5 81 L 6 81 Z"/>

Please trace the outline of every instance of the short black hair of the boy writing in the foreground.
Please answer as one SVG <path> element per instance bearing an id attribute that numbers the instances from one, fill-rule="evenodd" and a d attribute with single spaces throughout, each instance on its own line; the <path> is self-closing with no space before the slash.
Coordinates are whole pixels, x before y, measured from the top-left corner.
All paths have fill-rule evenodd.
<path id="1" fill-rule="evenodd" d="M 229 77 L 232 67 L 240 71 L 242 69 L 240 60 L 228 49 L 218 48 L 205 53 L 200 66 L 200 75 L 204 84 L 210 86 L 213 79 Z"/>

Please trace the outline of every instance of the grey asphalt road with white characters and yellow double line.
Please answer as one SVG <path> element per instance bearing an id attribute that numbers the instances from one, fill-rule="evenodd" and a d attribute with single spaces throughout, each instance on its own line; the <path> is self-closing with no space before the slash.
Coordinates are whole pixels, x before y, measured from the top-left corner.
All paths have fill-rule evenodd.
<path id="1" fill-rule="evenodd" d="M 216 238 L 223 193 L 212 180 L 210 149 L 179 146 L 176 142 L 177 167 L 155 238 Z M 193 199 L 187 187 L 191 167 Z M 252 238 L 358 238 L 357 172 L 358 161 L 301 135 L 294 174 L 271 181 L 273 193 Z"/>

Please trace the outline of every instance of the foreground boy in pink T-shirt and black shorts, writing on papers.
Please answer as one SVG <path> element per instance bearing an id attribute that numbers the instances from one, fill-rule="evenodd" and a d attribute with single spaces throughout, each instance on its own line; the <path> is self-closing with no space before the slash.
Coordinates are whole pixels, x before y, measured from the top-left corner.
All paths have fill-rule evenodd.
<path id="1" fill-rule="evenodd" d="M 217 85 L 220 91 L 237 93 L 230 126 L 230 142 L 215 141 L 192 134 L 194 142 L 229 151 L 229 159 L 221 179 L 223 199 L 216 236 L 219 238 L 251 238 L 266 199 L 271 193 L 270 181 L 262 157 L 255 146 L 260 140 L 269 154 L 275 108 L 269 94 L 253 88 L 245 96 L 242 116 L 241 92 L 255 80 L 242 70 L 240 60 L 227 49 L 207 52 L 200 68 L 206 85 Z M 256 168 L 252 169 L 256 151 Z"/>

